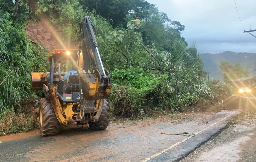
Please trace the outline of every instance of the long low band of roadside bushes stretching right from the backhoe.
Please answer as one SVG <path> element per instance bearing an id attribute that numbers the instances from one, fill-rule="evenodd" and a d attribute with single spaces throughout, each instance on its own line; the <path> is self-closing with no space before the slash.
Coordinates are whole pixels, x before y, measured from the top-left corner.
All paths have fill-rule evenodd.
<path id="1" fill-rule="evenodd" d="M 152 74 L 142 68 L 113 70 L 109 99 L 112 115 L 138 117 L 149 110 L 182 111 L 201 99 L 213 98 L 206 83 L 198 78 L 196 83 L 186 73 L 176 73 L 170 79 L 167 74 Z"/>

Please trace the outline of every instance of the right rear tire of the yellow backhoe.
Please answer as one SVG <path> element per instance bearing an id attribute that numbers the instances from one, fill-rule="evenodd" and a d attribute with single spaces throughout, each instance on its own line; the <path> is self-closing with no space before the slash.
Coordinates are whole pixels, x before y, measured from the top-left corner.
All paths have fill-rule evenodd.
<path id="1" fill-rule="evenodd" d="M 108 102 L 104 100 L 104 104 L 102 106 L 102 112 L 97 122 L 88 122 L 91 130 L 104 130 L 108 127 L 109 122 L 109 106 Z"/>

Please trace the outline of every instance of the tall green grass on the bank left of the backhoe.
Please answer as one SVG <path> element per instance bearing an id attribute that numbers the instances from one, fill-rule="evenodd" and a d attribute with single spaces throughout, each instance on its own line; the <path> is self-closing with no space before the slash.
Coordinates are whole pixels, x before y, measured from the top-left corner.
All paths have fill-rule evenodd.
<path id="1" fill-rule="evenodd" d="M 33 47 L 20 24 L 0 19 L 0 118 L 31 94 L 30 72 L 43 70 L 46 56 Z"/>

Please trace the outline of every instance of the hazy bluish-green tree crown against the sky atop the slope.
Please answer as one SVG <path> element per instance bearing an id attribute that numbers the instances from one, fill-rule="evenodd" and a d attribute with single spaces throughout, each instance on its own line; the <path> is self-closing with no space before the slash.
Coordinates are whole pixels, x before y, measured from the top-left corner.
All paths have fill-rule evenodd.
<path id="1" fill-rule="evenodd" d="M 155 45 L 160 50 L 171 52 L 177 47 L 186 48 L 187 43 L 180 36 L 180 31 L 184 28 L 179 21 L 171 21 L 166 13 L 150 7 L 148 16 L 141 19 L 139 32 L 146 45 Z"/>

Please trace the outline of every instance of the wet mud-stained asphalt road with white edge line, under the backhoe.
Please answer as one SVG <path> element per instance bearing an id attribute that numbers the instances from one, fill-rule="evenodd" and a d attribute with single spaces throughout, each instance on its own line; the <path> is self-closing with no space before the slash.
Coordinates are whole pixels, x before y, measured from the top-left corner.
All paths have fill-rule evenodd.
<path id="1" fill-rule="evenodd" d="M 21 134 L 4 136 L 0 137 L 0 161 L 177 161 L 215 136 L 236 114 L 237 111 L 191 111 L 142 121 L 119 120 L 103 131 L 64 128 L 59 135 L 50 137 L 37 132 L 27 138 Z M 182 132 L 196 136 L 173 135 Z"/>

